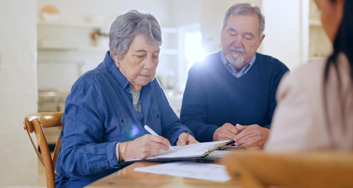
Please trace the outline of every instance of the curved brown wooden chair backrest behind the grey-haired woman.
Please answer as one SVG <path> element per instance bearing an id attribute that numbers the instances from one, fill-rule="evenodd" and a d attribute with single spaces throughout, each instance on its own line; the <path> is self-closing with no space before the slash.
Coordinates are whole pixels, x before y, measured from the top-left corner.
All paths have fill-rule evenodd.
<path id="1" fill-rule="evenodd" d="M 58 138 L 58 141 L 56 142 L 54 154 L 52 158 L 52 156 L 50 155 L 48 142 L 45 137 L 43 128 L 61 127 L 62 129 L 61 117 L 62 117 L 62 112 L 35 113 L 35 114 L 27 115 L 24 118 L 24 122 L 23 122 L 24 129 L 26 129 L 28 133 L 28 136 L 34 147 L 34 150 L 36 151 L 39 159 L 44 165 L 48 188 L 55 188 L 55 177 L 56 177 L 55 163 L 56 163 L 56 158 L 58 158 L 58 150 L 61 145 L 61 142 L 60 142 L 60 133 L 59 133 L 59 138 Z M 30 135 L 30 133 L 33 133 L 33 132 L 35 132 L 36 134 L 38 145 L 41 149 L 41 153 L 39 153 Z"/>

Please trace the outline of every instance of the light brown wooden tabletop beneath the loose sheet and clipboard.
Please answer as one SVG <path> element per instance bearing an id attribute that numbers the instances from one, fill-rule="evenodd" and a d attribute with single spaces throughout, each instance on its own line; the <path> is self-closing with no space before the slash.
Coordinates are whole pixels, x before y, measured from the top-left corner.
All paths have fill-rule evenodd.
<path id="1" fill-rule="evenodd" d="M 220 164 L 220 161 L 193 159 L 190 160 L 198 163 L 214 163 Z M 157 162 L 137 162 L 133 163 L 119 171 L 114 172 L 106 177 L 103 177 L 85 188 L 104 188 L 104 187 L 121 187 L 121 188 L 159 188 L 159 187 L 175 187 L 175 188 L 189 188 L 189 187 L 222 187 L 222 188 L 237 188 L 239 187 L 234 180 L 227 182 L 213 182 L 205 180 L 197 180 L 192 178 L 151 174 L 146 172 L 133 171 L 134 168 L 144 167 L 150 165 L 162 164 Z"/>

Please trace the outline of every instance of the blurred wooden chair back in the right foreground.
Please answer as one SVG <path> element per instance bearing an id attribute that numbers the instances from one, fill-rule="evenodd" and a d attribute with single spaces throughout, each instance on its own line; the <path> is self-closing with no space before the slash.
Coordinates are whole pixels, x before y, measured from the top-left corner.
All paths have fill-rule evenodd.
<path id="1" fill-rule="evenodd" d="M 234 153 L 223 164 L 245 188 L 353 186 L 353 152 Z"/>

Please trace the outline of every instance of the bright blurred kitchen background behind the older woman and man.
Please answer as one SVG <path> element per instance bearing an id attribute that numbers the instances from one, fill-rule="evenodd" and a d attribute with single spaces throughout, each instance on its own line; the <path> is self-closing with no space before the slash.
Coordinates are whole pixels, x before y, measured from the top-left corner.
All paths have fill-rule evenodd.
<path id="1" fill-rule="evenodd" d="M 245 0 L 263 9 L 265 39 L 258 52 L 290 69 L 330 53 L 314 0 Z M 37 0 L 38 111 L 63 111 L 71 86 L 95 68 L 108 48 L 110 23 L 131 9 L 153 13 L 163 30 L 156 77 L 179 115 L 187 72 L 221 49 L 221 22 L 240 0 Z M 301 3 L 300 3 L 301 2 Z M 310 46 L 310 48 L 309 48 Z"/>

